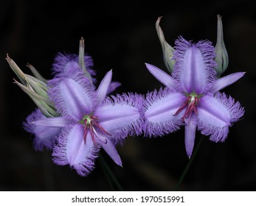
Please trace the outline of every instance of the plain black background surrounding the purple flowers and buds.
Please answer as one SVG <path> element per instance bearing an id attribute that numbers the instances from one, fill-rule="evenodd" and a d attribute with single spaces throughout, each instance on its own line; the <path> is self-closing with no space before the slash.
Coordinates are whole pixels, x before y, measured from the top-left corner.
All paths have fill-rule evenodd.
<path id="1" fill-rule="evenodd" d="M 252 1 L 253 2 L 253 1 Z M 29 62 L 47 79 L 58 51 L 77 54 L 79 40 L 94 59 L 100 82 L 113 69 L 122 82 L 118 93 L 147 93 L 162 85 L 147 71 L 151 63 L 167 71 L 156 35 L 159 16 L 168 43 L 208 39 L 215 45 L 217 15 L 222 16 L 229 53 L 225 74 L 246 75 L 225 88 L 246 113 L 230 128 L 225 143 L 204 138 L 181 185 L 183 191 L 255 191 L 256 9 L 251 1 L 2 1 L 0 7 L 0 190 L 108 191 L 111 188 L 96 161 L 88 177 L 69 166 L 52 163 L 51 152 L 35 152 L 22 128 L 35 104 L 15 84 L 6 54 L 29 73 Z M 198 132 L 196 143 L 201 137 Z M 105 155 L 125 191 L 172 191 L 188 163 L 184 128 L 163 138 L 126 138 L 118 147 L 123 168 Z"/>

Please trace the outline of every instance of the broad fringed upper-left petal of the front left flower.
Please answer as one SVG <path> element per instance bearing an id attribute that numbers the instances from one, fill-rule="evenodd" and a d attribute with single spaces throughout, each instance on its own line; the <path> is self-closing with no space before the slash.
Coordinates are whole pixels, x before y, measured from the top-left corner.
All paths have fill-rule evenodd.
<path id="1" fill-rule="evenodd" d="M 49 99 L 64 118 L 79 121 L 94 109 L 95 92 L 80 69 L 71 69 L 69 77 L 49 80 Z"/>

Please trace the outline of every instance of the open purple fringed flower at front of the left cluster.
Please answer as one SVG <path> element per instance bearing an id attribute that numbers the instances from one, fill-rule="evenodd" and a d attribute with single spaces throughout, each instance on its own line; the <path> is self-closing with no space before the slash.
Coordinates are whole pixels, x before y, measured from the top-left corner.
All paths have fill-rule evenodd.
<path id="1" fill-rule="evenodd" d="M 142 132 L 142 96 L 129 93 L 106 97 L 112 71 L 108 71 L 97 90 L 80 68 L 70 68 L 66 74 L 49 81 L 49 99 L 60 117 L 34 121 L 37 126 L 62 128 L 53 148 L 54 162 L 69 164 L 78 174 L 86 176 L 103 147 L 122 166 L 114 143 Z"/>

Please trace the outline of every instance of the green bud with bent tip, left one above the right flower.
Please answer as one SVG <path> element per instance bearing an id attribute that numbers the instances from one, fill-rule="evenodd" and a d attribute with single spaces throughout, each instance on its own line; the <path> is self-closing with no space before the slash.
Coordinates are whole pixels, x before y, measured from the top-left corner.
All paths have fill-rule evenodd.
<path id="1" fill-rule="evenodd" d="M 161 43 L 161 46 L 162 46 L 162 52 L 163 52 L 163 55 L 164 55 L 164 61 L 165 61 L 165 66 L 167 67 L 168 71 L 170 73 L 172 73 L 173 71 L 173 66 L 175 64 L 175 61 L 173 60 L 173 47 L 170 46 L 166 40 L 165 40 L 165 35 L 164 33 L 162 32 L 162 29 L 161 27 L 159 26 L 159 23 L 161 21 L 161 18 L 162 17 L 159 17 L 156 21 L 156 32 L 157 32 L 157 35 L 159 37 L 159 40 L 160 40 L 160 43 Z"/>

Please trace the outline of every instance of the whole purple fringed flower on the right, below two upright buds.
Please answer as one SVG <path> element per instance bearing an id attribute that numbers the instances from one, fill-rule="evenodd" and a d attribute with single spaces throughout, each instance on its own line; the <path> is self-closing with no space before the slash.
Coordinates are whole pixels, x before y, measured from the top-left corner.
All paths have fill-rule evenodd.
<path id="1" fill-rule="evenodd" d="M 243 77 L 244 72 L 216 79 L 214 47 L 209 41 L 179 38 L 173 54 L 172 76 L 153 65 L 148 70 L 167 88 L 148 93 L 145 104 L 145 135 L 165 135 L 185 125 L 185 147 L 193 152 L 196 129 L 211 141 L 224 141 L 232 123 L 243 116 L 239 102 L 218 91 Z"/>

